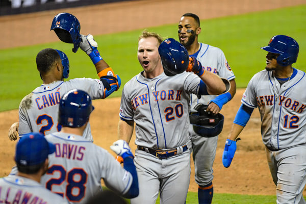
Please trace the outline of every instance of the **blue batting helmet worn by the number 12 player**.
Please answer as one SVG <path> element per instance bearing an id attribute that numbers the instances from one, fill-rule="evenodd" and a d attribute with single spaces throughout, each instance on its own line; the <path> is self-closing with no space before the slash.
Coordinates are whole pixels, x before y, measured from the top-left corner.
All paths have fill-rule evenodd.
<path id="1" fill-rule="evenodd" d="M 270 53 L 280 54 L 276 58 L 276 61 L 282 66 L 295 63 L 299 51 L 297 42 L 293 38 L 286 35 L 275 35 L 271 38 L 268 46 L 261 48 Z"/>

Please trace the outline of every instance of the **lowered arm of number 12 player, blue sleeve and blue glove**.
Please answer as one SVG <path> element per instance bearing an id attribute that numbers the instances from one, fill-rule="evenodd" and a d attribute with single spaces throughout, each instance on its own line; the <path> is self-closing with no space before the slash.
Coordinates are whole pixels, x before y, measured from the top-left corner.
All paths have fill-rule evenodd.
<path id="1" fill-rule="evenodd" d="M 233 158 L 236 152 L 236 148 L 237 148 L 236 141 L 239 140 L 237 139 L 237 137 L 240 135 L 241 131 L 244 129 L 246 123 L 251 117 L 252 112 L 253 112 L 253 108 L 249 108 L 242 104 L 236 114 L 230 134 L 228 134 L 227 136 L 223 155 L 222 155 L 222 163 L 225 168 L 230 167 L 233 161 Z"/>

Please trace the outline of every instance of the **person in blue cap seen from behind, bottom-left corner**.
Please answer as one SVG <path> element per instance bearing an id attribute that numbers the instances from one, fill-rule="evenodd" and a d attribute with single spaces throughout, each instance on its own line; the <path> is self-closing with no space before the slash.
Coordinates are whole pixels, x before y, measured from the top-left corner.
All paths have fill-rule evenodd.
<path id="1" fill-rule="evenodd" d="M 67 203 L 39 183 L 48 168 L 48 155 L 54 152 L 55 145 L 43 135 L 24 135 L 16 145 L 18 173 L 0 179 L 0 203 Z"/>

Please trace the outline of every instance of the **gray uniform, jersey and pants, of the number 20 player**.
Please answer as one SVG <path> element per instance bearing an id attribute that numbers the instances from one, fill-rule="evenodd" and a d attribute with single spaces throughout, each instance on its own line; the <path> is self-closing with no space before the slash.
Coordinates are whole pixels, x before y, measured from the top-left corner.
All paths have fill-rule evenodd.
<path id="1" fill-rule="evenodd" d="M 124 85 L 120 114 L 136 123 L 135 144 L 154 149 L 185 145 L 188 135 L 190 93 L 197 94 L 200 78 L 183 72 L 174 77 L 165 73 L 153 79 L 141 73 Z M 190 181 L 189 150 L 168 159 L 159 159 L 142 150 L 135 152 L 139 195 L 131 203 L 184 203 Z M 173 188 L 177 187 L 177 188 Z"/>

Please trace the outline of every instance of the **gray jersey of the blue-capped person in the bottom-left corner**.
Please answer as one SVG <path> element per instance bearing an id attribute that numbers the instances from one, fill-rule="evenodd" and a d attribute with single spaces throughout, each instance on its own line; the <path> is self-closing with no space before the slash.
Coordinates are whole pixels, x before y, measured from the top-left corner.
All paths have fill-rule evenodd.
<path id="1" fill-rule="evenodd" d="M 38 182 L 18 175 L 0 179 L 0 203 L 67 203 Z"/>

